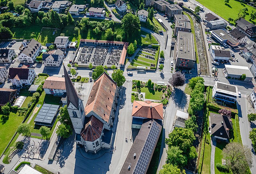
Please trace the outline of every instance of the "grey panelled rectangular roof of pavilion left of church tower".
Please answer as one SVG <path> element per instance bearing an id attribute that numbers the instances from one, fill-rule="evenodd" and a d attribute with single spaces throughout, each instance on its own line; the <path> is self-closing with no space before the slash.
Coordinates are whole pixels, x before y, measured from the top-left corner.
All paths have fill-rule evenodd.
<path id="1" fill-rule="evenodd" d="M 52 121 L 59 109 L 59 105 L 44 104 L 38 112 L 35 122 L 52 124 Z"/>

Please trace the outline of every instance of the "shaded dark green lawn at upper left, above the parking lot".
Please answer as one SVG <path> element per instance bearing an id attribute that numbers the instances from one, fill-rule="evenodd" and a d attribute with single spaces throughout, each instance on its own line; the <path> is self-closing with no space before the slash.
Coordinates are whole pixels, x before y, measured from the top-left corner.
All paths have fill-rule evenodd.
<path id="1" fill-rule="evenodd" d="M 11 28 L 11 31 L 13 33 L 13 38 L 24 38 L 24 39 L 31 39 L 31 33 L 34 32 L 36 37 L 34 39 L 37 39 L 37 37 L 40 34 L 40 31 L 42 29 L 42 25 L 30 25 L 30 26 L 25 26 L 25 27 L 13 27 Z"/>

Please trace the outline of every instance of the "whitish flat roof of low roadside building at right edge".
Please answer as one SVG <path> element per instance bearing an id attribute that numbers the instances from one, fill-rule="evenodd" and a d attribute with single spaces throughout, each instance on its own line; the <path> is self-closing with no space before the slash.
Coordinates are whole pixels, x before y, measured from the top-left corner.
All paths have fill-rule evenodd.
<path id="1" fill-rule="evenodd" d="M 242 75 L 245 74 L 246 77 L 252 77 L 252 73 L 248 67 L 245 66 L 237 66 L 237 65 L 225 65 L 226 70 L 228 71 L 228 74 L 233 75 Z"/>

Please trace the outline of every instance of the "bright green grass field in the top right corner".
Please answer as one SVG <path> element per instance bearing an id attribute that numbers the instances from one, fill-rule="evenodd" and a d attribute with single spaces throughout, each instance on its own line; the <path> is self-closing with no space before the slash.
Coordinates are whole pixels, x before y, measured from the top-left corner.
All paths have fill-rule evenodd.
<path id="1" fill-rule="evenodd" d="M 204 5 L 209 10 L 215 12 L 217 15 L 228 20 L 228 18 L 236 19 L 238 17 L 239 10 L 247 7 L 248 12 L 245 19 L 249 21 L 250 13 L 255 9 L 247 4 L 241 4 L 238 1 L 230 0 L 228 4 L 225 4 L 223 0 L 198 0 L 202 5 Z M 241 12 L 242 13 L 242 12 Z M 252 21 L 256 22 L 256 20 Z M 232 22 L 235 24 L 235 21 Z M 192 28 L 192 25 L 191 25 Z"/>

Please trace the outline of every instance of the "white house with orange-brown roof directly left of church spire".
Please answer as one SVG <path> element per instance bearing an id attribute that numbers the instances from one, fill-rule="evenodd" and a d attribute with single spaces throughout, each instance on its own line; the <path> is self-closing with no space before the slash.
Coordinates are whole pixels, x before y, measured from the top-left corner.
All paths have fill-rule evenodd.
<path id="1" fill-rule="evenodd" d="M 62 96 L 66 92 L 65 78 L 50 76 L 44 81 L 45 94 Z"/>

